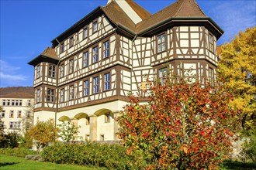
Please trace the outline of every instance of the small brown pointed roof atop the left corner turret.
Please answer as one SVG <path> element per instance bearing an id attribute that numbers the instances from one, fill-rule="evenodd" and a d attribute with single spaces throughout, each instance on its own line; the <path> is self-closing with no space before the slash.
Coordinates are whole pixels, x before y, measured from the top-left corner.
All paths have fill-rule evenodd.
<path id="1" fill-rule="evenodd" d="M 36 64 L 43 61 L 48 61 L 50 63 L 57 64 L 59 61 L 59 57 L 57 56 L 55 49 L 47 47 L 47 49 L 45 49 L 43 53 L 41 53 L 39 56 L 36 56 L 36 58 L 29 61 L 29 64 L 36 66 Z"/>

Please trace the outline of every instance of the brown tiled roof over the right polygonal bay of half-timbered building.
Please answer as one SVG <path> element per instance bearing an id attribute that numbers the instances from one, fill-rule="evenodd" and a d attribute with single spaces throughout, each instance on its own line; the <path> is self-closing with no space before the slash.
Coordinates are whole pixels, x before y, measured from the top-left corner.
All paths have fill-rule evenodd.
<path id="1" fill-rule="evenodd" d="M 167 19 L 175 17 L 206 17 L 202 9 L 195 0 L 178 0 L 177 2 L 168 5 L 161 11 L 150 15 L 149 18 L 137 24 L 137 32 L 142 32 L 145 29 L 155 26 Z"/>

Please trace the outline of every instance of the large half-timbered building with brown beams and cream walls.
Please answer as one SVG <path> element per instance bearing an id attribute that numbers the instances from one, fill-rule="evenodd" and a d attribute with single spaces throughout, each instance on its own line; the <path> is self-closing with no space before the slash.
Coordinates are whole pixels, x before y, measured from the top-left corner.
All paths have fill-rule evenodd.
<path id="1" fill-rule="evenodd" d="M 117 140 L 114 117 L 128 93 L 144 95 L 145 76 L 164 81 L 168 73 L 192 73 L 214 80 L 222 34 L 195 0 L 178 0 L 153 15 L 132 0 L 109 0 L 29 62 L 34 121 L 71 121 L 83 140 Z"/>

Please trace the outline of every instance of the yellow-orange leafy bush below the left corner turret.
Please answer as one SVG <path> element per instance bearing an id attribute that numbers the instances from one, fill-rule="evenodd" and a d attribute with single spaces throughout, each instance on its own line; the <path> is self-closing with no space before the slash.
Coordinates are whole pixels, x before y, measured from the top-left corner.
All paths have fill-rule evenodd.
<path id="1" fill-rule="evenodd" d="M 37 121 L 33 128 L 30 128 L 28 135 L 33 138 L 37 151 L 44 148 L 57 138 L 59 129 L 54 127 L 53 121 Z"/>

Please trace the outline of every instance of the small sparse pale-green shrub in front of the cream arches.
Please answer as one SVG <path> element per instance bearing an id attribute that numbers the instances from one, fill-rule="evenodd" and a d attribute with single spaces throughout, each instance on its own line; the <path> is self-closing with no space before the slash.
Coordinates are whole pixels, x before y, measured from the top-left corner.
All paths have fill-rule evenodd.
<path id="1" fill-rule="evenodd" d="M 59 124 L 58 127 L 61 128 L 59 136 L 62 139 L 62 141 L 65 142 L 74 141 L 78 134 L 78 128 L 80 128 L 69 121 L 62 122 L 62 124 Z"/>

